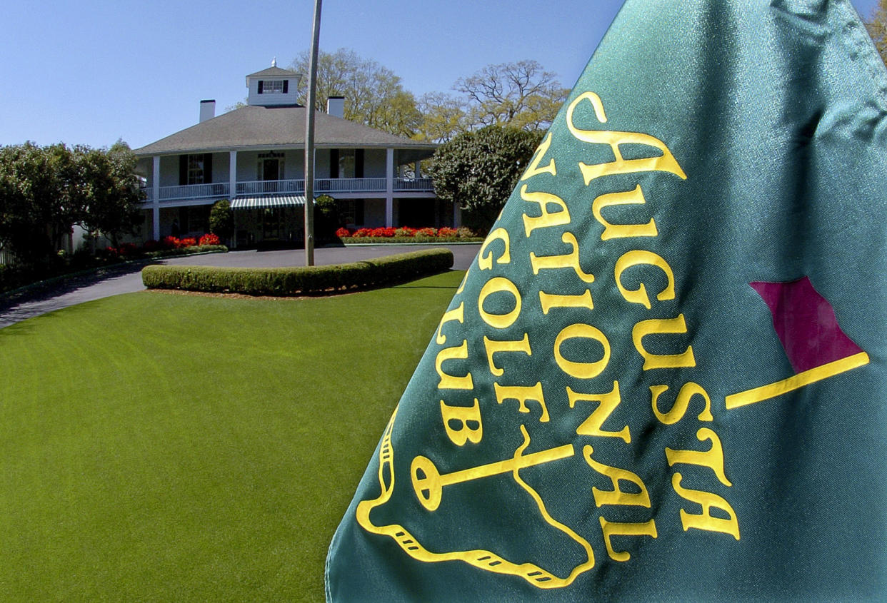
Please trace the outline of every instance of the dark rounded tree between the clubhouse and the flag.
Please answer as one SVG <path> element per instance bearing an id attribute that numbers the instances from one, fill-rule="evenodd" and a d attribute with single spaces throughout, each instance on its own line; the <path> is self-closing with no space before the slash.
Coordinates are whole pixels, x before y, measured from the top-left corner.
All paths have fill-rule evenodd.
<path id="1" fill-rule="evenodd" d="M 530 163 L 542 133 L 491 125 L 437 147 L 428 165 L 437 196 L 459 203 L 463 221 L 487 231 Z"/>

